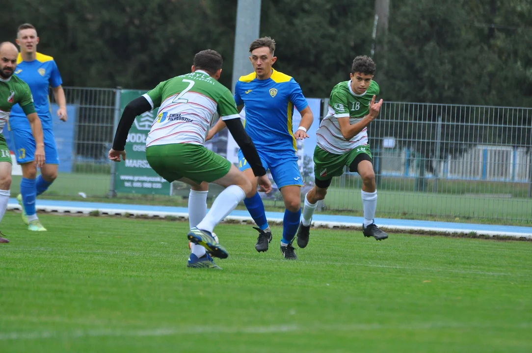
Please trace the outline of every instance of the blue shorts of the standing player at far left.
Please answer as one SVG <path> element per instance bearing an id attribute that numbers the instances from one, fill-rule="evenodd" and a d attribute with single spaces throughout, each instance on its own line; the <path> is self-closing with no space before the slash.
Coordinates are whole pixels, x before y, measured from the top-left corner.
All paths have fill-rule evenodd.
<path id="1" fill-rule="evenodd" d="M 55 147 L 54 131 L 43 129 L 44 134 L 44 156 L 46 164 L 59 164 L 57 157 L 57 147 Z M 15 129 L 11 130 L 11 140 L 15 145 L 16 163 L 23 164 L 35 160 L 35 138 L 31 130 Z"/>

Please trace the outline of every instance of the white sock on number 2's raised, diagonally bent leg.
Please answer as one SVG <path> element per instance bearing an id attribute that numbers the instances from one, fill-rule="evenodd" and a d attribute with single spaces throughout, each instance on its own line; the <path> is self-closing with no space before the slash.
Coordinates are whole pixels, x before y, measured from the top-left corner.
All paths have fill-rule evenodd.
<path id="1" fill-rule="evenodd" d="M 220 192 L 220 195 L 214 200 L 209 213 L 203 220 L 196 225 L 198 229 L 212 232 L 214 227 L 223 221 L 238 205 L 238 203 L 246 197 L 244 190 L 236 185 L 231 185 Z"/>

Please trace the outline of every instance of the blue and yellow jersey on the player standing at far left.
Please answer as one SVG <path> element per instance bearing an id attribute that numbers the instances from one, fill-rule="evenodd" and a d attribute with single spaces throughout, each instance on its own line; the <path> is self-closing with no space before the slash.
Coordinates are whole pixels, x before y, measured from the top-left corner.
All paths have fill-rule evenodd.
<path id="1" fill-rule="evenodd" d="M 34 97 L 35 110 L 43 124 L 43 129 L 52 129 L 52 114 L 50 111 L 49 87 L 61 86 L 63 81 L 57 65 L 52 56 L 37 53 L 34 61 L 22 61 L 19 54 L 18 65 L 15 69 L 17 75 L 30 86 Z M 20 105 L 14 105 L 9 117 L 9 130 L 31 130 L 26 114 Z"/>

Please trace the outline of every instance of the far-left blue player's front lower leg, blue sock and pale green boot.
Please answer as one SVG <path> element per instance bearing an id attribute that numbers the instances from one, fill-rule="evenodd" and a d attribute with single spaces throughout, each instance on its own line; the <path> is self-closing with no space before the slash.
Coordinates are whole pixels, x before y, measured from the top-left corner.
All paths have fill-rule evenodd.
<path id="1" fill-rule="evenodd" d="M 28 224 L 28 230 L 46 231 L 46 228 L 40 224 L 35 209 L 37 165 L 34 161 L 31 161 L 22 164 L 21 167 L 20 195 L 16 200 L 19 201 L 19 205 L 22 207 L 22 221 Z"/>

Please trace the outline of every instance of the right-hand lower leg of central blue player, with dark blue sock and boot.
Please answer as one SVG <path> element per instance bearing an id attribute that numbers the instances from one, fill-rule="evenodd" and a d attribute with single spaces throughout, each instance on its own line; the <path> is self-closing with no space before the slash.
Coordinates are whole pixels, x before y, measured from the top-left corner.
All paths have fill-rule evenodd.
<path id="1" fill-rule="evenodd" d="M 281 253 L 286 259 L 297 259 L 292 242 L 296 237 L 301 218 L 301 187 L 289 185 L 280 189 L 285 201 L 285 216 L 282 220 Z"/>

